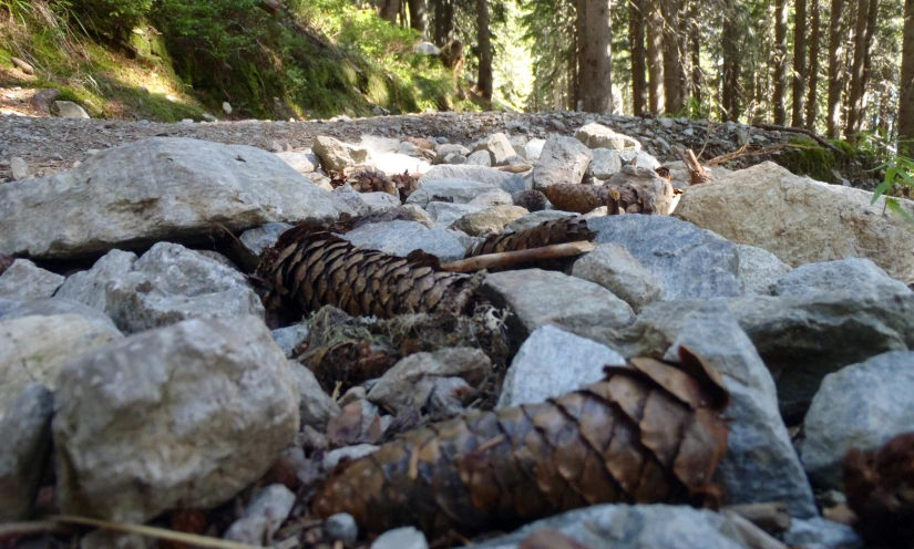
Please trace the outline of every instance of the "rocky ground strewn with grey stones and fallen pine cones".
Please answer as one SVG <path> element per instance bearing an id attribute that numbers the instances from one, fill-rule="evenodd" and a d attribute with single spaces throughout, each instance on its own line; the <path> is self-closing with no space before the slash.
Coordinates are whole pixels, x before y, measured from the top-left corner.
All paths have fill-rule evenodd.
<path id="1" fill-rule="evenodd" d="M 906 221 L 578 117 L 4 125 L 0 543 L 911 547 Z"/>

